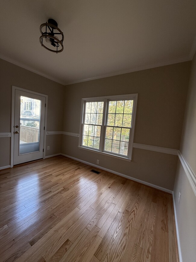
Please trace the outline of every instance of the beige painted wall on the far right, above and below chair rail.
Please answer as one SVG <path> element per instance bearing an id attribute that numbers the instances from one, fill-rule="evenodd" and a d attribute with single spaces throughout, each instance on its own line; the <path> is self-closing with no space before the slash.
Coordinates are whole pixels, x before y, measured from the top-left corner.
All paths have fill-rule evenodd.
<path id="1" fill-rule="evenodd" d="M 192 61 L 180 151 L 196 174 L 196 55 Z M 178 201 L 181 192 L 180 203 Z M 174 199 L 183 262 L 196 258 L 196 196 L 180 163 L 176 172 Z"/>

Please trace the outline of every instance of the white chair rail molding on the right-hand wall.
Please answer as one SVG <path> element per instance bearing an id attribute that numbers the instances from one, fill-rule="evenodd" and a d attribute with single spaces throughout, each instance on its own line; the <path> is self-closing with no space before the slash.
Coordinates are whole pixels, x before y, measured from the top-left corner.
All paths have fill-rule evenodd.
<path id="1" fill-rule="evenodd" d="M 193 170 L 191 169 L 191 167 L 187 163 L 185 157 L 182 155 L 182 153 L 180 151 L 178 151 L 178 156 L 179 156 L 180 162 L 182 164 L 182 167 L 184 168 L 185 173 L 188 177 L 188 181 L 191 184 L 193 192 L 196 196 L 196 175 L 194 174 Z"/>

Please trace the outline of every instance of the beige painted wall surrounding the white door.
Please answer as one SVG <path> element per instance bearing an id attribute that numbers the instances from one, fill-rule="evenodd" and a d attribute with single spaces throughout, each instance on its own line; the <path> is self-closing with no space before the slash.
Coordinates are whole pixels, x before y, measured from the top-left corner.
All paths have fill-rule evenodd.
<path id="1" fill-rule="evenodd" d="M 48 95 L 47 131 L 62 131 L 65 86 L 0 59 L 0 132 L 11 132 L 11 90 L 21 87 Z M 60 138 L 59 138 L 60 137 Z M 61 151 L 61 135 L 47 135 L 46 155 Z M 0 167 L 10 165 L 10 138 L 0 138 Z"/>

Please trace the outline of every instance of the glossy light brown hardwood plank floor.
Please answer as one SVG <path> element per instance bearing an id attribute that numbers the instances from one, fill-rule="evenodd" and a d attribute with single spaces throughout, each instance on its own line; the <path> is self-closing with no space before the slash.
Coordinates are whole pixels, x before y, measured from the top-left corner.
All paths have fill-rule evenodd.
<path id="1" fill-rule="evenodd" d="M 0 261 L 178 262 L 172 195 L 58 156 L 0 171 Z"/>

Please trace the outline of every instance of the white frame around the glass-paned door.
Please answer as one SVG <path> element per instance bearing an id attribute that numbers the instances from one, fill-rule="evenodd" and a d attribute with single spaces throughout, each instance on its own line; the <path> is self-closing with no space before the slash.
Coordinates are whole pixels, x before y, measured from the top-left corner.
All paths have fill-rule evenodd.
<path id="1" fill-rule="evenodd" d="M 31 94 L 35 94 L 35 95 L 41 95 L 44 96 L 46 98 L 46 107 L 45 107 L 45 119 L 44 119 L 44 140 L 43 140 L 43 159 L 46 158 L 46 129 L 47 129 L 47 109 L 48 109 L 48 95 L 45 94 L 41 94 L 38 92 L 34 92 L 28 89 L 24 89 L 21 87 L 17 87 L 17 86 L 12 86 L 12 98 L 11 98 L 11 159 L 10 159 L 10 166 L 13 167 L 14 166 L 14 111 L 15 111 L 15 90 L 20 90 L 20 91 L 24 91 L 24 92 L 29 92 Z"/>

